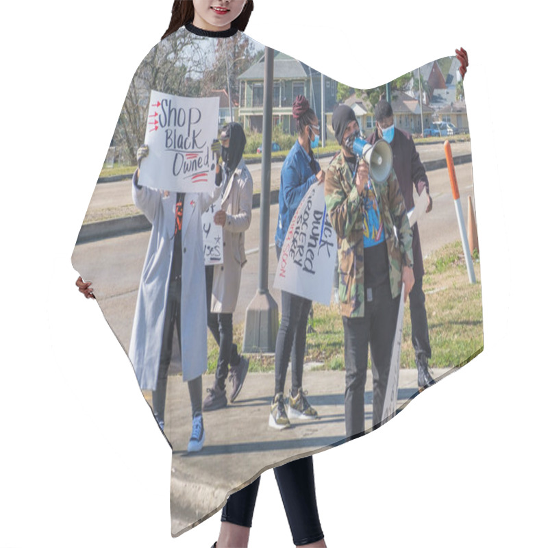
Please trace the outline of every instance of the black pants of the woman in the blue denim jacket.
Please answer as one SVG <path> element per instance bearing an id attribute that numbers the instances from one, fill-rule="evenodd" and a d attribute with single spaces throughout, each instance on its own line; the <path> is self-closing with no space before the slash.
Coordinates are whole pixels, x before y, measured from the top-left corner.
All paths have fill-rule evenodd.
<path id="1" fill-rule="evenodd" d="M 282 249 L 276 246 L 279 260 Z M 291 388 L 295 394 L 303 386 L 306 326 L 312 301 L 282 291 L 282 321 L 276 338 L 275 391 L 284 392 L 287 368 L 291 356 Z"/>

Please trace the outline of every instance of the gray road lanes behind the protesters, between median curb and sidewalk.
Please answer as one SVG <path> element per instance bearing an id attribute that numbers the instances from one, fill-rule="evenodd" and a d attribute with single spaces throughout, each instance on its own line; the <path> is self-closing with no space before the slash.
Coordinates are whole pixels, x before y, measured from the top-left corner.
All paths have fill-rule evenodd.
<path id="1" fill-rule="evenodd" d="M 473 196 L 472 164 L 456 166 L 456 174 L 462 208 L 466 215 L 468 196 Z M 419 222 L 423 256 L 428 256 L 442 245 L 460 238 L 447 169 L 429 171 L 428 178 L 434 207 Z M 112 185 L 118 186 L 110 183 L 98 187 L 110 188 Z M 278 206 L 275 204 L 270 209 L 271 245 L 277 214 Z M 259 221 L 259 210 L 253 210 L 251 227 L 246 233 L 246 249 L 251 252 L 248 253 L 248 262 L 242 271 L 238 307 L 234 314 L 236 324 L 245 320 L 245 310 L 256 294 L 259 264 L 255 250 L 259 245 Z M 75 268 L 84 279 L 92 280 L 101 310 L 126 351 L 129 347 L 137 288 L 148 240 L 149 232 L 140 232 L 78 245 L 73 253 Z M 275 249 L 271 247 L 269 288 L 279 303 L 279 292 L 272 289 L 276 264 Z"/>

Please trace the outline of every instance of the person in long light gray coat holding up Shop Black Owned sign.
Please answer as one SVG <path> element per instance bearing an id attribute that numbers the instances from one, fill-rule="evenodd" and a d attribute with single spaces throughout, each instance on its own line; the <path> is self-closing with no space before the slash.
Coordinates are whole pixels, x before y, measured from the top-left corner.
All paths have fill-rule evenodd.
<path id="1" fill-rule="evenodd" d="M 139 284 L 129 343 L 129 359 L 142 390 L 152 390 L 155 419 L 164 429 L 167 373 L 173 332 L 181 350 L 183 380 L 188 382 L 192 434 L 188 451 L 200 451 L 206 434 L 201 416 L 201 375 L 208 366 L 206 340 L 206 284 L 203 275 L 201 213 L 221 193 L 167 192 L 140 186 L 139 173 L 149 147 L 137 151 L 132 195 L 152 225 L 149 248 Z"/>

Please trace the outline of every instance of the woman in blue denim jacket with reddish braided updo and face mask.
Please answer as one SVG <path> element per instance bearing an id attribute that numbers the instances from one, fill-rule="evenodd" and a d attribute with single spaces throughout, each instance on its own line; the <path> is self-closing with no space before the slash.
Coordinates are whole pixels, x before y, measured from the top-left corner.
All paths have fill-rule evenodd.
<path id="1" fill-rule="evenodd" d="M 318 146 L 319 121 L 308 99 L 297 95 L 293 102 L 293 118 L 299 134 L 282 166 L 279 183 L 279 216 L 276 230 L 276 253 L 279 260 L 289 225 L 307 190 L 314 183 L 323 183 L 325 173 L 314 158 L 312 148 Z M 306 324 L 312 301 L 282 291 L 282 321 L 276 338 L 275 389 L 269 425 L 284 429 L 290 426 L 288 413 L 295 419 L 316 419 L 318 413 L 303 392 L 303 366 L 306 347 Z M 288 413 L 284 386 L 291 355 L 291 392 Z"/>

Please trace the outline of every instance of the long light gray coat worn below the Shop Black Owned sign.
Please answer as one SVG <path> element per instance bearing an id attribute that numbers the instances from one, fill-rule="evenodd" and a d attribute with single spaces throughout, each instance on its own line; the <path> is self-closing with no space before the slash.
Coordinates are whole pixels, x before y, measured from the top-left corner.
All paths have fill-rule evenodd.
<path id="1" fill-rule="evenodd" d="M 129 343 L 129 359 L 142 390 L 155 390 L 160 367 L 160 349 L 167 301 L 177 192 L 164 193 L 132 184 L 135 205 L 152 224 L 142 269 L 137 306 Z M 183 380 L 190 381 L 204 373 L 208 366 L 206 276 L 203 262 L 201 214 L 221 192 L 216 187 L 212 196 L 187 193 L 183 205 L 181 341 Z"/>

